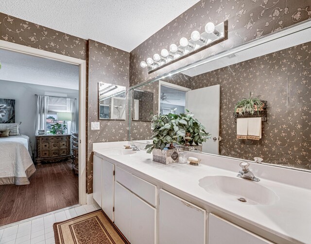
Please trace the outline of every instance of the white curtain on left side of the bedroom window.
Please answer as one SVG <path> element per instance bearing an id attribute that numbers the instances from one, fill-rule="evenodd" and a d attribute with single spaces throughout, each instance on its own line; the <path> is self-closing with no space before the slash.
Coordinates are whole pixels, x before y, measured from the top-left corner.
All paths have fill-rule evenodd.
<path id="1" fill-rule="evenodd" d="M 36 100 L 35 134 L 38 134 L 38 130 L 44 130 L 46 134 L 49 96 L 38 95 Z"/>

